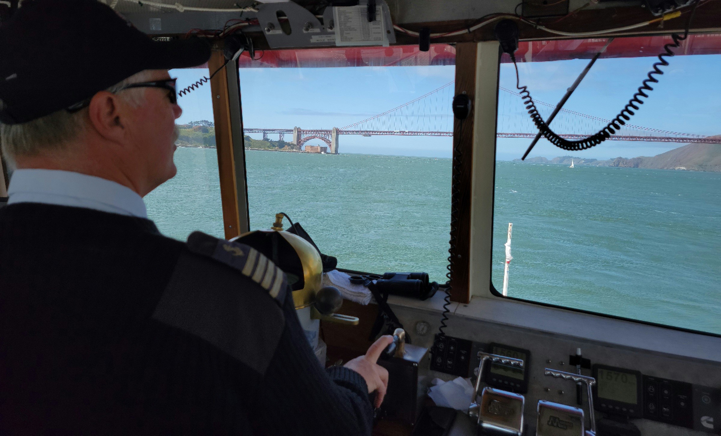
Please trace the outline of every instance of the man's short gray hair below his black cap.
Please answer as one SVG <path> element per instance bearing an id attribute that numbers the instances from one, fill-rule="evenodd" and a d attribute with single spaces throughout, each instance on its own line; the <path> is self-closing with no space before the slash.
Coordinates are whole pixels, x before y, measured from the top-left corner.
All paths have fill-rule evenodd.
<path id="1" fill-rule="evenodd" d="M 149 81 L 150 79 L 151 71 L 141 71 L 115 83 L 106 91 L 115 94 L 129 83 Z M 118 94 L 120 98 L 133 106 L 143 104 L 144 95 L 143 88 L 130 88 L 123 94 Z M 72 114 L 61 109 L 23 124 L 0 123 L 0 147 L 3 158 L 8 166 L 14 169 L 15 156 L 35 156 L 43 151 L 65 150 L 68 144 L 76 140 L 87 128 L 87 113 L 87 107 Z"/>

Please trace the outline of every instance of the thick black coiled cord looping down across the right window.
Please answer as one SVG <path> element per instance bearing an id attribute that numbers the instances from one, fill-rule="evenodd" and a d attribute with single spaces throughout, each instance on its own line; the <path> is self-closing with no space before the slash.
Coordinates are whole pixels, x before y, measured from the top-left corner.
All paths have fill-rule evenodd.
<path id="1" fill-rule="evenodd" d="M 699 2 L 696 1 L 694 2 L 694 5 L 691 6 L 691 14 L 689 14 L 689 19 L 686 21 L 684 35 L 681 36 L 677 33 L 671 34 L 673 42 L 669 42 L 663 46 L 664 51 L 658 55 L 658 62 L 653 64 L 653 70 L 647 74 L 648 78 L 641 83 L 638 91 L 636 91 L 636 94 L 634 94 L 629 100 L 628 104 L 624 106 L 624 109 L 622 109 L 614 119 L 611 119 L 611 122 L 606 124 L 606 127 L 603 127 L 603 129 L 593 135 L 590 135 L 589 137 L 585 137 L 582 140 L 566 140 L 551 130 L 551 127 L 549 127 L 549 125 L 541 117 L 541 114 L 539 114 L 538 109 L 536 109 L 536 104 L 534 103 L 534 99 L 531 97 L 531 93 L 528 91 L 528 86 L 521 86 L 521 81 L 518 78 L 518 64 L 516 63 L 516 56 L 513 53 L 509 53 L 510 59 L 513 60 L 513 66 L 516 68 L 516 88 L 518 89 L 519 94 L 521 94 L 521 99 L 523 99 L 523 106 L 526 106 L 526 110 L 528 110 L 531 120 L 534 124 L 536 124 L 536 127 L 539 132 L 541 132 L 541 135 L 543 135 L 556 147 L 562 148 L 563 150 L 578 151 L 587 150 L 590 147 L 601 144 L 601 142 L 609 139 L 611 135 L 615 135 L 616 132 L 621 130 L 621 127 L 635 114 L 634 111 L 638 111 L 640 109 L 640 105 L 644 103 L 642 98 L 648 98 L 646 91 L 653 91 L 653 87 L 650 86 L 650 83 L 658 83 L 658 78 L 655 78 L 655 76 L 663 75 L 663 71 L 661 71 L 659 67 L 668 66 L 668 61 L 665 60 L 665 58 L 670 58 L 674 55 L 671 49 L 678 48 L 681 45 L 681 41 L 684 41 L 687 37 L 689 37 L 689 27 L 691 26 L 691 20 L 694 19 L 694 12 L 696 12 L 696 6 L 698 4 Z"/>

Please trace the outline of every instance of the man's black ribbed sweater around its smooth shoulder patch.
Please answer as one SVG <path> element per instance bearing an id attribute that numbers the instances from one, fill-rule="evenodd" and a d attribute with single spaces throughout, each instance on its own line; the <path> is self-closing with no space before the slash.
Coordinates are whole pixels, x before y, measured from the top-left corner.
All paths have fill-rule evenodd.
<path id="1" fill-rule="evenodd" d="M 365 381 L 321 368 L 290 291 L 263 371 L 153 317 L 183 253 L 146 219 L 0 209 L 0 433 L 370 434 Z"/>

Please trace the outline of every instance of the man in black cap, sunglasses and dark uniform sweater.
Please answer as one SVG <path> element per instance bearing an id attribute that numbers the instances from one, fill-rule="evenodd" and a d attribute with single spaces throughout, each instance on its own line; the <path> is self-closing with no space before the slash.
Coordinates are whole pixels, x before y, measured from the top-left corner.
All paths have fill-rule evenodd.
<path id="1" fill-rule="evenodd" d="M 167 69 L 209 55 L 95 0 L 1 24 L 0 433 L 370 434 L 391 337 L 325 371 L 273 262 L 146 217 L 176 172 Z"/>

